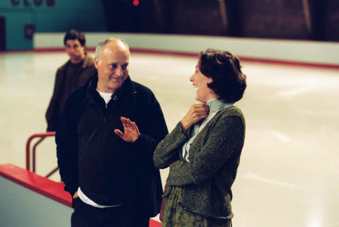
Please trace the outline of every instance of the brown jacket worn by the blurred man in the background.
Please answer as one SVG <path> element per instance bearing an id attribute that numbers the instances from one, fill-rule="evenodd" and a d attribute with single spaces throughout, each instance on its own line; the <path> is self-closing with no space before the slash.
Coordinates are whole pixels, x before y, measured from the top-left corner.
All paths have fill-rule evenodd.
<path id="1" fill-rule="evenodd" d="M 64 91 L 64 81 L 67 74 L 67 66 L 70 60 L 57 69 L 55 76 L 54 91 L 46 111 L 47 132 L 55 131 L 57 122 L 59 120 L 59 102 Z M 76 75 L 78 77 L 76 87 L 79 87 L 88 81 L 88 78 L 96 74 L 96 67 L 94 66 L 94 59 L 86 54 L 81 71 Z M 69 94 L 70 95 L 70 94 Z"/>

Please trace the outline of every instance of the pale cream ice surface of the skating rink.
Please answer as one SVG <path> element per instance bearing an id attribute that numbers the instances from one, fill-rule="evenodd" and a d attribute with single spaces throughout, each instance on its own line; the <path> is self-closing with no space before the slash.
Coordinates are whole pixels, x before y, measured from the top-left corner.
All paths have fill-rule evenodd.
<path id="1" fill-rule="evenodd" d="M 93 55 L 93 52 L 89 54 Z M 0 163 L 25 168 L 25 142 L 45 132 L 45 111 L 64 52 L 0 54 Z M 133 53 L 130 76 L 154 91 L 171 131 L 196 88 L 195 57 Z M 246 140 L 232 187 L 234 227 L 339 226 L 339 69 L 243 62 Z M 57 164 L 38 147 L 37 173 Z M 163 182 L 168 170 L 161 170 Z M 58 174 L 52 176 L 59 180 Z"/>

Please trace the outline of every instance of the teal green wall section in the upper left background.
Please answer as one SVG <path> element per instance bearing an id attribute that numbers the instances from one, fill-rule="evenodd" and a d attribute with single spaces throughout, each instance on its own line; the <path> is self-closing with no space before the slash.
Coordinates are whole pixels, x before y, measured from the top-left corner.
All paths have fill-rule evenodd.
<path id="1" fill-rule="evenodd" d="M 27 24 L 35 25 L 37 33 L 64 33 L 72 28 L 107 31 L 99 0 L 1 0 L 0 17 L 5 18 L 6 50 L 33 50 L 33 40 L 24 35 Z"/>

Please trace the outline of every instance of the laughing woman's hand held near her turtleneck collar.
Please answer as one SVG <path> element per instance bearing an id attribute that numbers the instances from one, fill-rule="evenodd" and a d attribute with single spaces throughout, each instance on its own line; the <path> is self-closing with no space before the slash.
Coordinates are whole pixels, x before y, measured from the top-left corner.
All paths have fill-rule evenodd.
<path id="1" fill-rule="evenodd" d="M 209 107 L 205 103 L 191 105 L 186 116 L 181 120 L 183 132 L 185 133 L 193 124 L 208 116 Z"/>

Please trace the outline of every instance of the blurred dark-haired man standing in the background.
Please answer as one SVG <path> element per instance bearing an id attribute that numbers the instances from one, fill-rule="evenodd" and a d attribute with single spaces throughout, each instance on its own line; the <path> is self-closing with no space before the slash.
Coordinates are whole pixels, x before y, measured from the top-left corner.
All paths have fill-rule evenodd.
<path id="1" fill-rule="evenodd" d="M 84 84 L 96 71 L 94 60 L 85 52 L 85 35 L 69 30 L 64 36 L 64 46 L 69 60 L 57 69 L 54 91 L 47 108 L 47 132 L 55 131 L 67 98 L 75 88 Z"/>

